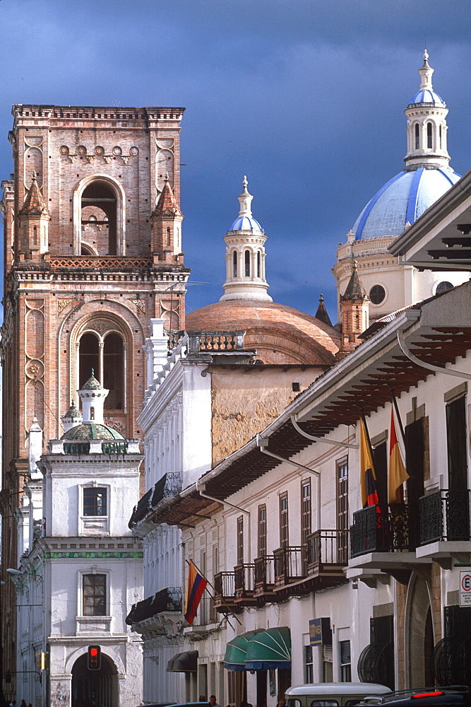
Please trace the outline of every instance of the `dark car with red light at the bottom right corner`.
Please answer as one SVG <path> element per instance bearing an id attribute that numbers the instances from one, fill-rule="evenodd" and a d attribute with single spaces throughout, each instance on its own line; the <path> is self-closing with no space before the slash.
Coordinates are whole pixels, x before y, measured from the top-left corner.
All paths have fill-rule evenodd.
<path id="1" fill-rule="evenodd" d="M 362 707 L 385 705 L 387 707 L 446 707 L 465 705 L 471 707 L 471 691 L 466 685 L 449 687 L 433 686 L 415 690 L 400 690 L 387 695 L 365 697 L 359 703 Z"/>

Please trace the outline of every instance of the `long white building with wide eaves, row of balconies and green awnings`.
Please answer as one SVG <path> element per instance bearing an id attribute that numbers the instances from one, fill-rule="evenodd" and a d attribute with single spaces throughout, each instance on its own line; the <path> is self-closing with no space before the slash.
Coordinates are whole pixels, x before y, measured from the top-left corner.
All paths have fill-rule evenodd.
<path id="1" fill-rule="evenodd" d="M 147 522 L 181 528 L 184 559 L 214 587 L 217 614 L 181 626 L 177 653 L 199 691 L 275 707 L 303 682 L 469 682 L 470 303 L 465 283 L 370 329 L 256 438 L 150 510 Z M 410 470 L 400 504 L 393 393 Z M 362 414 L 379 498 L 366 508 Z"/>

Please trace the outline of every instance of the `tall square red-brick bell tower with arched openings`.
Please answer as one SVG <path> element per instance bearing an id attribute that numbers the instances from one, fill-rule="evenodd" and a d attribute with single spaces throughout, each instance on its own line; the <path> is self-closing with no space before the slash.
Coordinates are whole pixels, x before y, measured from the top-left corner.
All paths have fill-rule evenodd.
<path id="1" fill-rule="evenodd" d="M 93 368 L 109 390 L 105 422 L 139 437 L 149 320 L 184 328 L 183 112 L 13 106 L 14 174 L 0 202 L 3 568 L 17 566 L 14 516 L 32 420 L 44 444 L 60 438 L 61 416 Z"/>

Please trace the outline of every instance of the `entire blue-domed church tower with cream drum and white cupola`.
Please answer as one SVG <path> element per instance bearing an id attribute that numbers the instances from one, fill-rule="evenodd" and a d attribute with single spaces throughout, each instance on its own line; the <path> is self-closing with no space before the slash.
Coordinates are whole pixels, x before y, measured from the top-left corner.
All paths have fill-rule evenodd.
<path id="1" fill-rule="evenodd" d="M 448 108 L 432 87 L 434 69 L 428 59 L 426 51 L 419 69 L 419 90 L 405 110 L 405 168 L 378 189 L 347 233 L 346 243 L 338 246 L 333 274 L 338 288 L 339 318 L 340 296 L 347 287 L 354 260 L 369 296 L 371 321 L 458 285 L 469 277 L 453 270 L 448 271 L 446 277 L 436 271 L 419 271 L 411 264 L 398 262 L 388 251 L 395 238 L 460 178 L 449 165 Z"/>

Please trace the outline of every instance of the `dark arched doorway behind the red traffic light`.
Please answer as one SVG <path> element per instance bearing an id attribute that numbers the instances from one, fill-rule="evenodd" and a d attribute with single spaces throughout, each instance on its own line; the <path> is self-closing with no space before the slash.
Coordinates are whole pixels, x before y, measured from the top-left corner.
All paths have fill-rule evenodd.
<path id="1" fill-rule="evenodd" d="M 71 707 L 119 707 L 118 671 L 108 655 L 100 670 L 88 670 L 86 653 L 73 664 Z"/>

